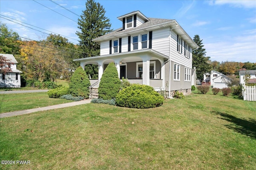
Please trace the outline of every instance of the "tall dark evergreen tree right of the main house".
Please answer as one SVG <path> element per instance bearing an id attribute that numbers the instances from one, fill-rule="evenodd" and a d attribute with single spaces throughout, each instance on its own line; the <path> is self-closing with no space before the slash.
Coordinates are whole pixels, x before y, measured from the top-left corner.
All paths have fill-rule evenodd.
<path id="1" fill-rule="evenodd" d="M 202 45 L 203 40 L 200 39 L 199 35 L 195 35 L 193 40 L 199 48 L 193 51 L 192 65 L 196 67 L 196 76 L 202 82 L 204 79 L 203 74 L 209 72 L 211 68 L 210 57 L 205 57 L 206 51 L 203 48 L 204 45 Z"/>

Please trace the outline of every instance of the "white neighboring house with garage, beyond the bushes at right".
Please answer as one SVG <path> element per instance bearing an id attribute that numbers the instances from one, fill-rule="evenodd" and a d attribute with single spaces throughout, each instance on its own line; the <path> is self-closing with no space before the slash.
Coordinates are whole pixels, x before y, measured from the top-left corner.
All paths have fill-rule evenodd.
<path id="1" fill-rule="evenodd" d="M 224 74 L 211 70 L 210 73 L 204 73 L 204 81 L 203 84 L 209 84 L 213 88 L 225 88 L 228 87 L 226 82 L 228 82 L 230 78 L 225 76 Z"/>

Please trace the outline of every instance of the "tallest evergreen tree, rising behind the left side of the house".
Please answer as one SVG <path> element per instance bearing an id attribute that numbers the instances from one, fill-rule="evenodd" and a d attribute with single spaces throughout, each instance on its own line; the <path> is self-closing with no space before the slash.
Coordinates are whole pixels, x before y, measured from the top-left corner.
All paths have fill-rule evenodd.
<path id="1" fill-rule="evenodd" d="M 84 57 L 92 57 L 100 54 L 100 45 L 92 41 L 92 39 L 105 35 L 112 31 L 110 29 L 110 20 L 105 17 L 106 11 L 100 3 L 94 0 L 87 0 L 86 10 L 82 11 L 82 15 L 78 19 L 77 31 L 80 41 L 79 45 L 84 52 Z"/>

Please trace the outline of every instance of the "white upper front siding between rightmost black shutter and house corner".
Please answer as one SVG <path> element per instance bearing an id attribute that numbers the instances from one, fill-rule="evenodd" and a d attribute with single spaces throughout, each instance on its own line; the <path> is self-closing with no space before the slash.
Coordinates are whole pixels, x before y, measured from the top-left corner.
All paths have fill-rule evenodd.
<path id="1" fill-rule="evenodd" d="M 158 29 L 152 32 L 152 49 L 170 57 L 170 29 Z"/>

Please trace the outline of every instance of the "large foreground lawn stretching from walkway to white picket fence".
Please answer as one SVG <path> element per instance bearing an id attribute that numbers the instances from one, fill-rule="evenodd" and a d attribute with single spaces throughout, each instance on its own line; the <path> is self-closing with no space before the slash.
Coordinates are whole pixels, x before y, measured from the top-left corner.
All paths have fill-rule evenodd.
<path id="1" fill-rule="evenodd" d="M 256 169 L 256 102 L 191 94 L 153 109 L 85 104 L 0 119 L 0 169 Z"/>

